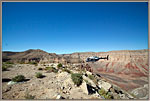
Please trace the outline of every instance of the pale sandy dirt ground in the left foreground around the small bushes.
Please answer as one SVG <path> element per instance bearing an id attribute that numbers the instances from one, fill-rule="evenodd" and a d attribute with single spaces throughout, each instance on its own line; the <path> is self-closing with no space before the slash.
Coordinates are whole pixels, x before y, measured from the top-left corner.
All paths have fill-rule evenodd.
<path id="1" fill-rule="evenodd" d="M 36 78 L 35 73 L 41 72 L 45 77 Z M 25 82 L 14 85 L 7 83 L 16 75 L 24 75 Z M 63 81 L 67 80 L 69 75 L 59 76 L 58 73 L 46 73 L 38 70 L 37 66 L 30 64 L 17 64 L 8 71 L 2 72 L 2 98 L 3 99 L 26 99 L 25 96 L 32 95 L 35 99 L 56 99 L 56 95 L 61 94 L 66 99 L 93 99 L 92 95 L 86 95 L 80 88 L 72 88 L 69 94 L 61 92 Z"/>

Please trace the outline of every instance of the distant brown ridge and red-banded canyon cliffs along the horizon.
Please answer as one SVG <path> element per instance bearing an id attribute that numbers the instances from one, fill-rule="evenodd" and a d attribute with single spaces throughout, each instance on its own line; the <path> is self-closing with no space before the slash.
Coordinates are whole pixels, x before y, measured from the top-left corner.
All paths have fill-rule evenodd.
<path id="1" fill-rule="evenodd" d="M 77 52 L 72 54 L 47 53 L 43 50 L 27 50 L 24 52 L 8 52 L 2 54 L 3 61 L 10 62 L 38 62 L 38 63 L 86 63 L 90 56 L 106 57 L 108 60 L 99 60 L 89 63 L 97 72 L 117 74 L 132 74 L 137 76 L 148 75 L 148 49 L 143 50 L 120 50 L 108 52 Z"/>

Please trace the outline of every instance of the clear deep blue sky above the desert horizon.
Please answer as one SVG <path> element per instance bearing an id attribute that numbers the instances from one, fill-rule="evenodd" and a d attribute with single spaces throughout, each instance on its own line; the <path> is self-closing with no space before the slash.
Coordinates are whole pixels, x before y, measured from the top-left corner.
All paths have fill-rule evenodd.
<path id="1" fill-rule="evenodd" d="M 5 2 L 2 50 L 50 53 L 148 48 L 146 2 Z"/>

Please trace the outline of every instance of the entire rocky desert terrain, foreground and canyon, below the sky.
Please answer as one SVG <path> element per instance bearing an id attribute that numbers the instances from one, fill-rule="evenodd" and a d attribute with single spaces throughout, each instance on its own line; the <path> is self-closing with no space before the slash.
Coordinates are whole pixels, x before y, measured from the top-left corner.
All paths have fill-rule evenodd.
<path id="1" fill-rule="evenodd" d="M 147 49 L 2 55 L 3 99 L 148 99 Z M 86 62 L 91 56 L 108 59 Z"/>

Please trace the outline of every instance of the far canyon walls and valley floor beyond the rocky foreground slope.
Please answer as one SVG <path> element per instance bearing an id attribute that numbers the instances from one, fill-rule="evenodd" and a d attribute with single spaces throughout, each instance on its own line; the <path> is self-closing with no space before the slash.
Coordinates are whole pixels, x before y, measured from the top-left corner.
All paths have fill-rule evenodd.
<path id="1" fill-rule="evenodd" d="M 78 52 L 58 55 L 55 53 L 47 53 L 40 49 L 30 49 L 24 52 L 4 51 L 2 53 L 2 59 L 3 62 L 13 62 L 15 64 L 35 62 L 38 63 L 38 66 L 50 63 L 62 63 L 69 67 L 78 64 L 78 69 L 82 70 L 82 67 L 85 67 L 93 74 L 100 75 L 107 82 L 120 87 L 123 91 L 132 93 L 136 98 L 147 99 L 149 73 L 148 51 L 147 49 L 120 50 L 109 52 Z M 108 59 L 86 62 L 86 59 L 91 56 L 108 56 Z M 107 87 L 109 87 L 109 84 Z M 107 89 L 107 87 L 104 88 Z"/>

